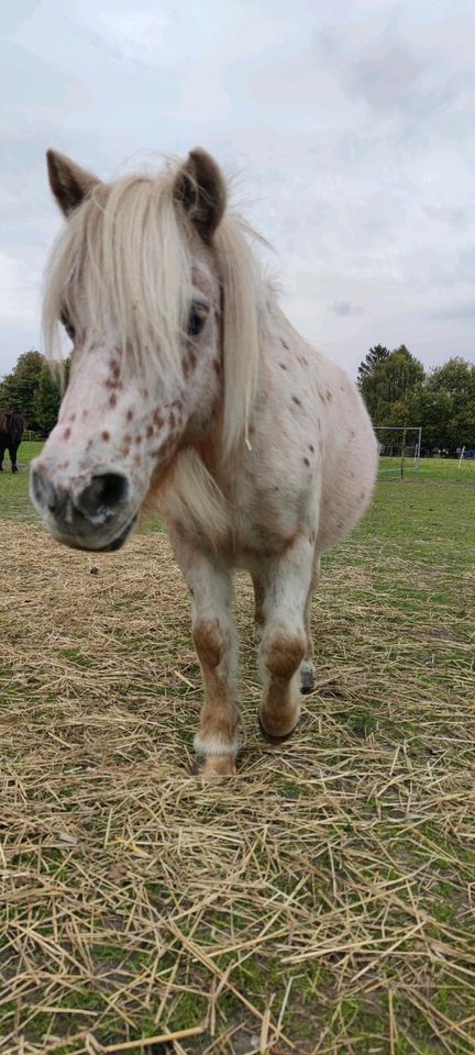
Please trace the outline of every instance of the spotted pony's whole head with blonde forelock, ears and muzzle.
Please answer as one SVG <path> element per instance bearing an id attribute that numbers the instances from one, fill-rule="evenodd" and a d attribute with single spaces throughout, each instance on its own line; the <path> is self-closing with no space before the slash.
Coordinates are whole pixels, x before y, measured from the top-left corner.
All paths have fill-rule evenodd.
<path id="1" fill-rule="evenodd" d="M 45 338 L 54 355 L 63 324 L 73 354 L 31 495 L 59 541 L 117 549 L 180 451 L 212 430 L 223 457 L 243 442 L 256 274 L 203 151 L 112 184 L 52 151 L 47 160 L 67 222 L 46 274 Z"/>

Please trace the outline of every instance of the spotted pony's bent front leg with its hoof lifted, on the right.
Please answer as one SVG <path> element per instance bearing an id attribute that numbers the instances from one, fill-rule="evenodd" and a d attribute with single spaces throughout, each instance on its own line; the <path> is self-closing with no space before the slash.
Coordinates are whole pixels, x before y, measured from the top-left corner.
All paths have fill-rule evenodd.
<path id="1" fill-rule="evenodd" d="M 289 736 L 299 720 L 300 665 L 308 652 L 306 602 L 313 560 L 313 545 L 301 535 L 266 566 L 259 721 L 270 740 Z"/>

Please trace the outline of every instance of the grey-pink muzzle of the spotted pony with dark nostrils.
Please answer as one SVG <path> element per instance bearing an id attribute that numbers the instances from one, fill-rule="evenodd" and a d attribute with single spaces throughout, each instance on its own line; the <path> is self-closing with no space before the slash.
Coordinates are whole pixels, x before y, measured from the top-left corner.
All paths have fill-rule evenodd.
<path id="1" fill-rule="evenodd" d="M 31 497 L 52 533 L 73 546 L 121 545 L 135 521 L 130 480 L 115 470 L 70 482 L 56 478 L 47 464 L 38 462 L 31 469 Z"/>

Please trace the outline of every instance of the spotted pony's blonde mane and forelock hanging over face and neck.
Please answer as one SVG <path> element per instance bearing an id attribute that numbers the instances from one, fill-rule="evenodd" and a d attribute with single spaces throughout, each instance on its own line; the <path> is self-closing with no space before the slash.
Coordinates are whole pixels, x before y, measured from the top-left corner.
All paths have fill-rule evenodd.
<path id="1" fill-rule="evenodd" d="M 120 334 L 124 360 L 144 379 L 157 369 L 165 385 L 181 377 L 197 235 L 175 200 L 178 170 L 177 163 L 167 163 L 156 177 L 98 184 L 71 214 L 46 270 L 43 329 L 49 357 L 57 356 L 62 313 L 75 315 L 82 304 L 89 332 L 101 335 L 109 326 Z M 225 456 L 246 437 L 257 384 L 265 295 L 248 234 L 244 221 L 228 211 L 211 247 L 223 291 Z"/>

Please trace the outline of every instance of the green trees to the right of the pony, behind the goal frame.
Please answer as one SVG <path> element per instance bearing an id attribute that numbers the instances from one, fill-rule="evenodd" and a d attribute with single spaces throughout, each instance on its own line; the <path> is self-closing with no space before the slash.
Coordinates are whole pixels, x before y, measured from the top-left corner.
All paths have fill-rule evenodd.
<path id="1" fill-rule="evenodd" d="M 426 373 L 405 344 L 369 348 L 357 385 L 374 425 L 422 427 L 422 451 L 475 448 L 475 365 L 460 356 Z"/>

